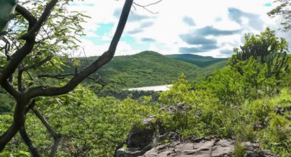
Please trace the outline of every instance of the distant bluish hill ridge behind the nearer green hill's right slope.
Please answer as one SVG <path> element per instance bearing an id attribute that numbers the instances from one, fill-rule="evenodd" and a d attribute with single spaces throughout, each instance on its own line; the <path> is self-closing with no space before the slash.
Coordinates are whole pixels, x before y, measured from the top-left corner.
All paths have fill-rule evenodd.
<path id="1" fill-rule="evenodd" d="M 192 63 L 201 68 L 207 68 L 208 66 L 212 66 L 215 68 L 222 68 L 227 63 L 227 58 L 214 58 L 214 57 L 203 57 L 200 55 L 192 55 L 192 54 L 177 54 L 177 55 L 166 55 L 167 57 L 177 59 L 180 61 L 186 61 L 188 63 Z M 211 68 L 210 68 L 211 69 Z"/>

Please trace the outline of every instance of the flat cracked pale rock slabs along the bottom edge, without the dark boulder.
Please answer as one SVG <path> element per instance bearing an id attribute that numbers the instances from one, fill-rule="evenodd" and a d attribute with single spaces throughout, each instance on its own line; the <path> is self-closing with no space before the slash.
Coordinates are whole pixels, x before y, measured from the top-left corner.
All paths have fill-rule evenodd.
<path id="1" fill-rule="evenodd" d="M 202 140 L 201 140 L 202 139 Z M 201 138 L 196 142 L 173 141 L 154 147 L 142 157 L 227 157 L 233 156 L 236 141 L 232 139 Z M 261 150 L 257 143 L 242 143 L 245 147 L 244 157 L 276 157 L 268 150 Z"/>

